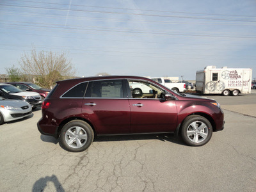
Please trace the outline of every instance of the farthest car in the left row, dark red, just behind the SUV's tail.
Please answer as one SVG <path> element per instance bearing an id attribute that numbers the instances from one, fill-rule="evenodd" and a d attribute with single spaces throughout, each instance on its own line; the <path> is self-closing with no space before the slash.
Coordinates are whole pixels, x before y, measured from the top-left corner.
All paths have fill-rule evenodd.
<path id="1" fill-rule="evenodd" d="M 42 100 L 47 97 L 48 93 L 51 92 L 49 89 L 44 89 L 40 87 L 39 85 L 31 82 L 8 82 L 8 84 L 12 84 L 22 90 L 23 92 L 36 92 L 39 93 L 42 97 Z"/>

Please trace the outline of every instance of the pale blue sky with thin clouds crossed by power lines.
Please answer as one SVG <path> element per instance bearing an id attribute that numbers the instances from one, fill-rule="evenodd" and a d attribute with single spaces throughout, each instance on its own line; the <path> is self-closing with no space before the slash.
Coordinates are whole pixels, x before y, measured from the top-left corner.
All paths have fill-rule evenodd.
<path id="1" fill-rule="evenodd" d="M 179 77 L 252 68 L 255 0 L 0 0 L 0 74 L 22 54 L 66 52 L 76 76 Z"/>

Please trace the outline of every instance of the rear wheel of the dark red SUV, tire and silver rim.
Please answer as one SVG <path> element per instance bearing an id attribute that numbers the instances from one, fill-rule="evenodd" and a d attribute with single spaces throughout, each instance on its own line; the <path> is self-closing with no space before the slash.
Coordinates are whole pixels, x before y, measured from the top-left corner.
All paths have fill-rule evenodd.
<path id="1" fill-rule="evenodd" d="M 94 132 L 89 124 L 72 120 L 61 129 L 60 145 L 70 152 L 82 152 L 90 147 L 93 138 Z"/>

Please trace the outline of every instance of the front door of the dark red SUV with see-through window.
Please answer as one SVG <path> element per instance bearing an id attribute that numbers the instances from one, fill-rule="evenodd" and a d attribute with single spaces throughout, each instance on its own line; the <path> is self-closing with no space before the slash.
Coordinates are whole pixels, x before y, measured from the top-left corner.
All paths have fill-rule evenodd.
<path id="1" fill-rule="evenodd" d="M 131 106 L 131 132 L 173 132 L 177 126 L 177 108 L 175 100 L 165 100 L 164 90 L 143 81 L 129 81 L 142 83 L 152 89 L 150 93 L 142 95 L 132 94 L 129 99 Z"/>

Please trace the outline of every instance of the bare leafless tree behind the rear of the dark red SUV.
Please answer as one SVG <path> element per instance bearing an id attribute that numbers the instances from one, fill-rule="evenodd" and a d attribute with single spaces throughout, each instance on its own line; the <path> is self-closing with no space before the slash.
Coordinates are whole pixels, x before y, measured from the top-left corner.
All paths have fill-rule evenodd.
<path id="1" fill-rule="evenodd" d="M 50 88 L 56 81 L 74 77 L 76 73 L 65 52 L 36 52 L 34 48 L 30 54 L 22 55 L 19 64 L 24 74 L 36 76 L 37 83 L 44 88 Z"/>

